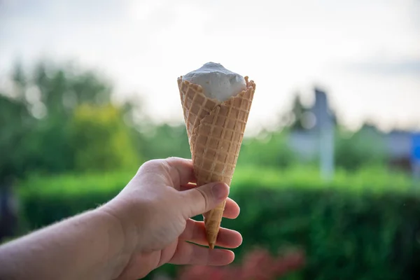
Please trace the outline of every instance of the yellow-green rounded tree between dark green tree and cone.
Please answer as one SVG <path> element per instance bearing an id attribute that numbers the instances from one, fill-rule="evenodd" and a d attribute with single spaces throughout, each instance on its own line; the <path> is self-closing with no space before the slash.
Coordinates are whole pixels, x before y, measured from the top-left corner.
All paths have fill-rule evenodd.
<path id="1" fill-rule="evenodd" d="M 129 128 L 116 106 L 79 106 L 71 119 L 69 134 L 78 171 L 130 169 L 139 165 Z"/>

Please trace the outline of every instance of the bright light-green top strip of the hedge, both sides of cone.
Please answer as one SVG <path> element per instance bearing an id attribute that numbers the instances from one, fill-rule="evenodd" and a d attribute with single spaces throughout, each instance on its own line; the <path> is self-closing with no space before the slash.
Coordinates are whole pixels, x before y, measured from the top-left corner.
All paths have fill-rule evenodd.
<path id="1" fill-rule="evenodd" d="M 116 189 L 121 190 L 137 172 L 137 166 L 130 169 L 114 172 L 89 172 L 80 174 L 60 174 L 54 176 L 41 176 L 32 174 L 19 182 L 18 193 L 20 197 L 31 195 L 57 196 L 85 195 L 85 193 L 109 193 Z M 80 183 L 83 181 L 84 183 Z M 412 179 L 401 172 L 389 172 L 383 167 L 366 167 L 353 172 L 337 169 L 331 184 L 325 182 L 314 167 L 291 166 L 284 169 L 272 167 L 237 167 L 232 180 L 232 190 L 236 186 L 253 186 L 253 188 L 295 188 L 325 190 L 326 188 L 346 188 L 353 193 L 366 190 L 371 193 L 384 191 L 407 193 L 416 185 Z M 349 186 L 351 186 L 349 188 Z M 29 198 L 30 199 L 30 198 Z M 43 205 L 39 205 L 43 207 Z"/>

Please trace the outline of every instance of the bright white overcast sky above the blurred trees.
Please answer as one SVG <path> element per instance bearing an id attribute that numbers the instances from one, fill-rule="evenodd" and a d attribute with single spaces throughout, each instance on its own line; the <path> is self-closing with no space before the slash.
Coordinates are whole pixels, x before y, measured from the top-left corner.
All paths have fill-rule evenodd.
<path id="1" fill-rule="evenodd" d="M 17 58 L 73 60 L 182 122 L 176 78 L 218 62 L 256 83 L 248 131 L 315 85 L 350 128 L 420 128 L 419 15 L 419 0 L 0 0 L 0 80 Z"/>

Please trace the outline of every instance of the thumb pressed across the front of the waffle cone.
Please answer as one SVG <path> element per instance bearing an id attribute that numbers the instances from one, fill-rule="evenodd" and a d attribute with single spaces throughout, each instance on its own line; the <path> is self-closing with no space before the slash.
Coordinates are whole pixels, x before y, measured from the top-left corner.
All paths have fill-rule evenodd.
<path id="1" fill-rule="evenodd" d="M 229 195 L 229 187 L 225 183 L 208 183 L 197 188 L 184 190 L 183 214 L 191 218 L 204 214 L 221 204 Z"/>

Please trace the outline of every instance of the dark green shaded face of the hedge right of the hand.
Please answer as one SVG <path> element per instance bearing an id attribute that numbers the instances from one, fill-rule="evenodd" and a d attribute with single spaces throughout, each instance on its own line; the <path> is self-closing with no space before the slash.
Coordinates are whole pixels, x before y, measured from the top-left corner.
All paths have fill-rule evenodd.
<path id="1" fill-rule="evenodd" d="M 244 250 L 300 245 L 302 279 L 418 279 L 420 197 L 338 190 L 244 190 L 237 221 Z M 418 270 L 418 271 L 417 271 Z"/>

